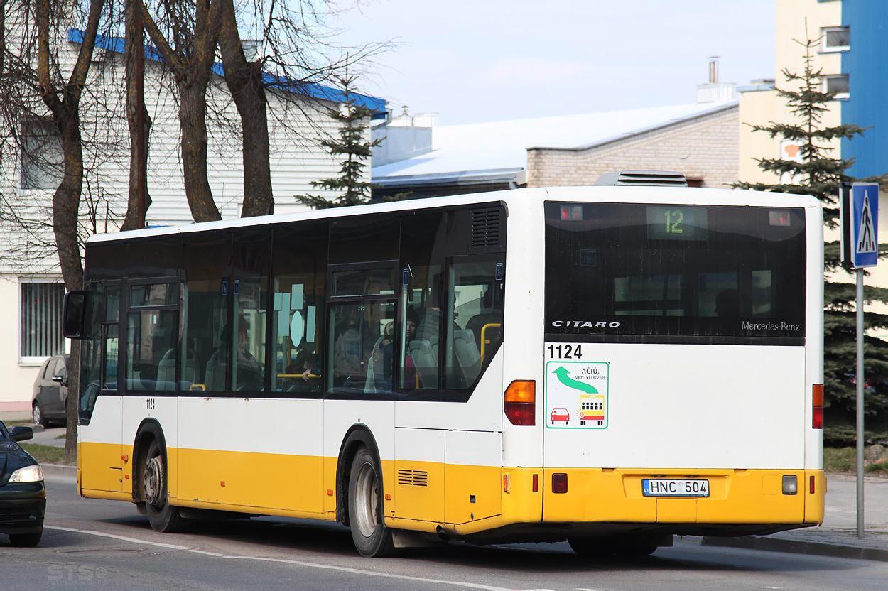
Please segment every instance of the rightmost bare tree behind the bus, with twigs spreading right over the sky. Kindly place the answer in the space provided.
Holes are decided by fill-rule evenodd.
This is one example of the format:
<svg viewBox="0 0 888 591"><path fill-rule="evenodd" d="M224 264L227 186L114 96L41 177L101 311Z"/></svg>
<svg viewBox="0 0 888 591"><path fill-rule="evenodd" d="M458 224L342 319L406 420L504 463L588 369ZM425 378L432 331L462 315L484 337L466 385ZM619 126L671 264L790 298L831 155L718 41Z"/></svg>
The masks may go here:
<svg viewBox="0 0 888 591"><path fill-rule="evenodd" d="M329 2L251 0L239 4L239 10L235 9L234 0L222 3L218 44L226 84L242 127L242 217L261 216L274 210L266 93L272 91L279 99L285 116L279 116L276 123L287 129L291 137L300 138L306 145L316 144L319 136L321 142L335 141L313 122L318 113L329 114L330 100L345 102L347 98L322 89L319 84L338 86L342 70L354 70L355 64L369 64L392 43L368 43L358 48L336 46L332 43L335 32L324 22L325 15L333 11ZM321 6L325 9L322 12ZM245 55L239 27L251 30L251 43L261 49L251 59ZM310 136L303 135L304 130L288 121L286 114L293 111L312 128Z"/></svg>

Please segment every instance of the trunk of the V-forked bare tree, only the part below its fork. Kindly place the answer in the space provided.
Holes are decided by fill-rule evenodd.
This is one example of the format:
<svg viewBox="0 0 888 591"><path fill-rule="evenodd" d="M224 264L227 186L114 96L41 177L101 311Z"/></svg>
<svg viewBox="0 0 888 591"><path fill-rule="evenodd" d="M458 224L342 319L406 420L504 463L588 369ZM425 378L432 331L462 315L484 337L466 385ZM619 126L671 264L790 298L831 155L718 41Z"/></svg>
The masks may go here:
<svg viewBox="0 0 888 591"><path fill-rule="evenodd" d="M178 123L182 130L185 194L195 222L222 219L207 174L207 84L183 80L178 85Z"/></svg>

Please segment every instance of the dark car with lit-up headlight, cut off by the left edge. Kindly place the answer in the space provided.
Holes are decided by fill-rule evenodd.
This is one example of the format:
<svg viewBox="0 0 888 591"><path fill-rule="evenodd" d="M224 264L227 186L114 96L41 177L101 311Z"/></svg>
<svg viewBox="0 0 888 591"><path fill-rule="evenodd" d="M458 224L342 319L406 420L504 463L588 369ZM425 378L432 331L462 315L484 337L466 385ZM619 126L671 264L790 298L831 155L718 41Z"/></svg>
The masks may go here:
<svg viewBox="0 0 888 591"><path fill-rule="evenodd" d="M10 431L0 421L0 533L12 546L36 546L44 534L44 472L18 444L32 437L30 427Z"/></svg>

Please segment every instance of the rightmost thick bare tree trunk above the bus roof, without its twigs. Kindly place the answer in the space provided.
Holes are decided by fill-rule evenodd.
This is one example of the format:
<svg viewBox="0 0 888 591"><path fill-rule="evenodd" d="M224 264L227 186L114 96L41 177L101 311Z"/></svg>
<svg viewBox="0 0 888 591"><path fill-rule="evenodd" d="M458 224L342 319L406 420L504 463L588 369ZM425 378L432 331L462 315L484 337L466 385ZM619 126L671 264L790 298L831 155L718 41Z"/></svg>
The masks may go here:
<svg viewBox="0 0 888 591"><path fill-rule="evenodd" d="M266 91L262 83L262 62L249 62L243 55L237 31L234 0L223 0L219 49L225 67L225 80L234 105L241 114L243 151L242 217L265 216L274 212Z"/></svg>

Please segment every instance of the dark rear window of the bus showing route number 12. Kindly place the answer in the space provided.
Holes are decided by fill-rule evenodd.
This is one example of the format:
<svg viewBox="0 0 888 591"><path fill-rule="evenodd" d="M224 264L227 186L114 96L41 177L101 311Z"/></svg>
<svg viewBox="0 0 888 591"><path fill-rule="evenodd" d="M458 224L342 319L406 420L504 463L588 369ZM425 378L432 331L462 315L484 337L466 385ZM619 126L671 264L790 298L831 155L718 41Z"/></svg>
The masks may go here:
<svg viewBox="0 0 888 591"><path fill-rule="evenodd" d="M801 208L547 202L547 340L805 342Z"/></svg>

